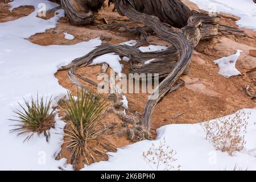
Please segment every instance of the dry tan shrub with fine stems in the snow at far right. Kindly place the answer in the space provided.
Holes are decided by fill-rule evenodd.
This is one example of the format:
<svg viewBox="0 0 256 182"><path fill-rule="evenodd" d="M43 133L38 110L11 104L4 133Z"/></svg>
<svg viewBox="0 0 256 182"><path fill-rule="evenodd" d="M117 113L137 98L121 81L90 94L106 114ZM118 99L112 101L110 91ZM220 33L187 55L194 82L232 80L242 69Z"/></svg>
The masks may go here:
<svg viewBox="0 0 256 182"><path fill-rule="evenodd" d="M210 140L217 150L228 152L241 151L245 146L245 133L250 113L238 111L234 117L215 119L202 123L206 139Z"/></svg>

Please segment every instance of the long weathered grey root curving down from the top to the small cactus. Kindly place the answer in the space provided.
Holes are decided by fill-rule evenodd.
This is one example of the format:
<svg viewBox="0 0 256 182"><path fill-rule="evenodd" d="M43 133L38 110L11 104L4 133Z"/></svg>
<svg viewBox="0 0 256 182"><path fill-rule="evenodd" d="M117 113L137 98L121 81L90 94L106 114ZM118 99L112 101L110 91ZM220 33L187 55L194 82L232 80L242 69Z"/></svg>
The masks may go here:
<svg viewBox="0 0 256 182"><path fill-rule="evenodd" d="M204 15L191 16L188 19L187 26L182 28L183 32L177 32L160 22L158 17L139 13L130 3L126 1L119 1L119 3L119 9L124 15L130 19L137 20L137 22L147 24L160 38L170 42L179 53L179 61L177 61L174 70L159 84L158 88L154 90L152 96L156 97L152 100L148 100L144 108L142 126L144 126L147 131L150 131L152 113L156 105L169 92L172 86L174 86L175 82L191 61L192 46L196 46L202 38L200 27L202 27L203 23L215 22L216 20ZM217 35L218 28L213 29L215 30L215 35Z"/></svg>

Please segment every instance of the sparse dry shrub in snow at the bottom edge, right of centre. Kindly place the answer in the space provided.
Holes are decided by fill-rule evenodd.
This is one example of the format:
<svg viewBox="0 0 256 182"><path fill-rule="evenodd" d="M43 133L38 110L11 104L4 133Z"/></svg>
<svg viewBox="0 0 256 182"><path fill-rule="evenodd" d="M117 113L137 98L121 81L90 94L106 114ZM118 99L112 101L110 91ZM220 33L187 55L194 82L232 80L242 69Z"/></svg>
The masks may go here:
<svg viewBox="0 0 256 182"><path fill-rule="evenodd" d="M156 147L154 143L150 149L146 152L143 152L143 158L146 163L155 171L158 171L162 168L164 171L170 171L175 169L171 164L175 162L176 151L172 150L170 146L166 145L166 140L160 142L160 146ZM177 166L177 170L180 170L180 165Z"/></svg>

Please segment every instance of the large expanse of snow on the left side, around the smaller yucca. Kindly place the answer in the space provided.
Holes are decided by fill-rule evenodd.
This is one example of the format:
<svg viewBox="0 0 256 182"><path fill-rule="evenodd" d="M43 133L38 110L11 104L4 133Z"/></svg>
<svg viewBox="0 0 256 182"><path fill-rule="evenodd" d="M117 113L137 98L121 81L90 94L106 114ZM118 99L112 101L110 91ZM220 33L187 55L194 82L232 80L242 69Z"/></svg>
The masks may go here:
<svg viewBox="0 0 256 182"><path fill-rule="evenodd" d="M11 2L13 7L32 5L34 13L11 22L0 23L0 169L2 170L57 170L65 168L65 159L55 160L63 140L65 123L56 118L56 128L51 129L49 143L41 136L34 135L28 142L23 140L26 135L17 137L10 133L9 125L15 124L8 119L13 118L12 109L19 109L18 101L31 96L53 96L67 93L54 74L61 65L69 63L76 57L83 56L101 44L100 39L82 42L74 46L38 46L26 39L31 35L44 32L56 25L59 14L49 20L36 18L38 3L46 3L51 9L57 4L47 0ZM69 169L70 165L67 166Z"/></svg>

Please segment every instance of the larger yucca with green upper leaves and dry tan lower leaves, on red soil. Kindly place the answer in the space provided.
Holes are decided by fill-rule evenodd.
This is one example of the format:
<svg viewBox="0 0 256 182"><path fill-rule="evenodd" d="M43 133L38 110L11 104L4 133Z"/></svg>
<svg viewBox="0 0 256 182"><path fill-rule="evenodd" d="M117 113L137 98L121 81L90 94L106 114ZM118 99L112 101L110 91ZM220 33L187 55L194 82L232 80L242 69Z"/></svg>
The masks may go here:
<svg viewBox="0 0 256 182"><path fill-rule="evenodd" d="M90 146L88 142L104 137L107 127L104 127L101 121L106 117L105 109L108 105L102 95L94 96L93 90L88 93L85 90L81 93L77 90L77 98L68 91L68 98L64 110L70 124L64 129L63 150L71 152L69 160L74 166L82 159L89 164L89 158L106 155L101 147Z"/></svg>

